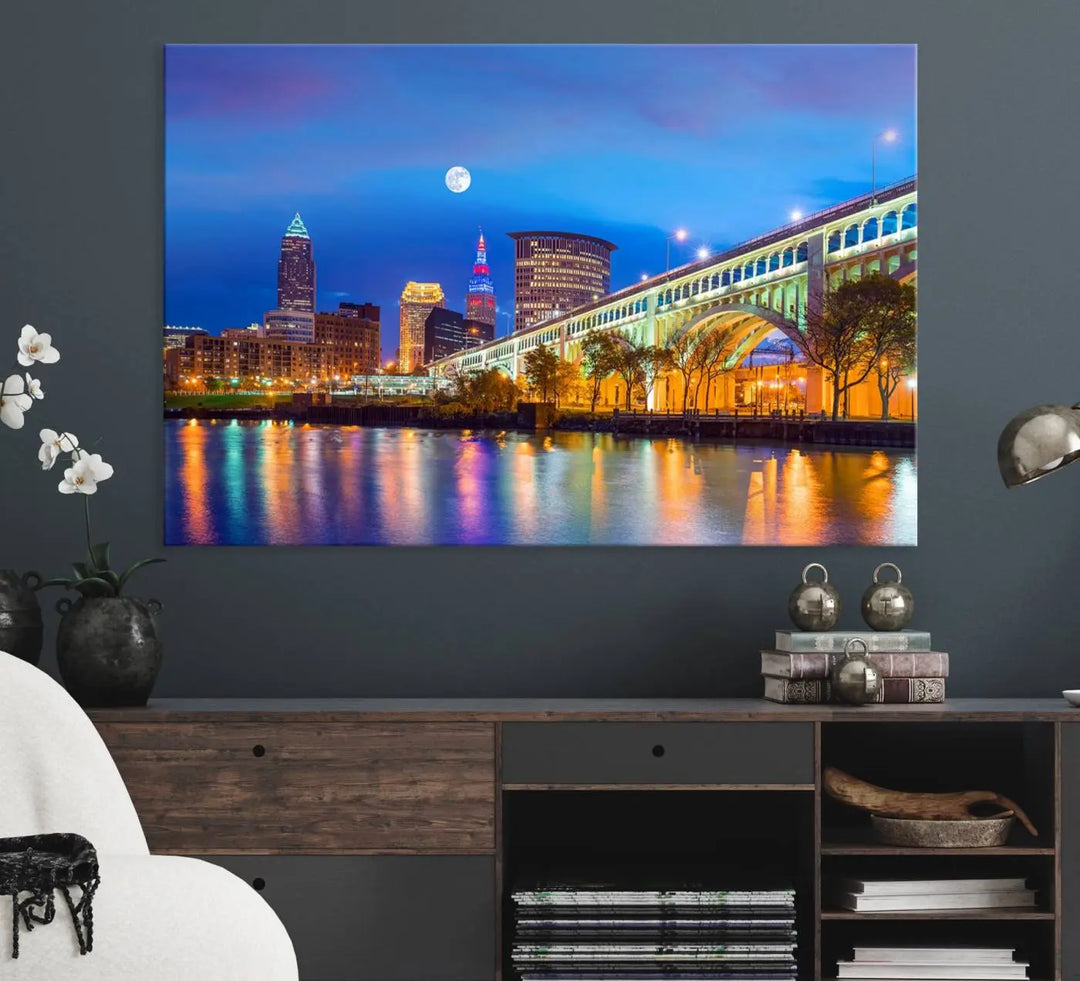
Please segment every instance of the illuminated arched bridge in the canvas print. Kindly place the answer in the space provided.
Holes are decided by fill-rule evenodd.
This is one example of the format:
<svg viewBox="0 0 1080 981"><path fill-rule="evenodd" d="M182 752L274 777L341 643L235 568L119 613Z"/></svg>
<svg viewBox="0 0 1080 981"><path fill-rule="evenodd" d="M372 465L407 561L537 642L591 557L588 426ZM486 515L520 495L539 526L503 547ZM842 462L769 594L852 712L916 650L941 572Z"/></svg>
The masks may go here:
<svg viewBox="0 0 1080 981"><path fill-rule="evenodd" d="M663 345L680 328L721 328L728 364L739 366L773 331L795 337L807 307L847 279L885 272L914 280L918 204L915 177L845 201L766 232L717 255L680 266L517 331L508 337L433 362L436 377L497 367L516 378L531 349L546 345L577 361L591 331L618 331L637 344ZM820 369L811 367L807 408L822 404ZM816 394L810 388L816 387ZM663 381L649 407L663 405Z"/></svg>

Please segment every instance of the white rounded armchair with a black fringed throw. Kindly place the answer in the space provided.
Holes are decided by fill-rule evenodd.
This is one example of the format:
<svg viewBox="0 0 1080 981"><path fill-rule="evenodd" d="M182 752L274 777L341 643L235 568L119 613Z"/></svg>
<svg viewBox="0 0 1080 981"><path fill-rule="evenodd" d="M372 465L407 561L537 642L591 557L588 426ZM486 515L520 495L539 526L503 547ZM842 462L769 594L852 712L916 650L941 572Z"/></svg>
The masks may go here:
<svg viewBox="0 0 1080 981"><path fill-rule="evenodd" d="M94 950L71 919L21 931L0 897L4 981L296 981L281 920L251 886L197 859L151 856L123 780L97 730L37 668L0 653L0 837L73 832L97 848ZM78 890L76 896L78 899Z"/></svg>

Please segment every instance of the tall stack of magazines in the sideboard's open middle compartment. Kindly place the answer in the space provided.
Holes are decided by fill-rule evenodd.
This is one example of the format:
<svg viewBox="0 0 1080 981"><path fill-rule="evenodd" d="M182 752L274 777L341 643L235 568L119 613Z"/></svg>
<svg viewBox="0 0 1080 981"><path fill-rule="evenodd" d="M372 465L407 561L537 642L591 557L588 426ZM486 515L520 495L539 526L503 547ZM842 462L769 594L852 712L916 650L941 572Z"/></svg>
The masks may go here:
<svg viewBox="0 0 1080 981"><path fill-rule="evenodd" d="M795 981L795 890L515 890L523 981Z"/></svg>

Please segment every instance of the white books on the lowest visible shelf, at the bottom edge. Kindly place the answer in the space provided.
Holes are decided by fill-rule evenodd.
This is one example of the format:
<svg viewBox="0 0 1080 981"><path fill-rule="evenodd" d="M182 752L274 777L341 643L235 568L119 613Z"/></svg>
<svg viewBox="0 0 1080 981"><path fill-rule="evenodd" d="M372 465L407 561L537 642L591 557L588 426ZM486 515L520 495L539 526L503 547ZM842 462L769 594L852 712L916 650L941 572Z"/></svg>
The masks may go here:
<svg viewBox="0 0 1080 981"><path fill-rule="evenodd" d="M851 960L837 964L838 978L890 981L995 981L1027 978L1029 965L1013 948L856 946Z"/></svg>

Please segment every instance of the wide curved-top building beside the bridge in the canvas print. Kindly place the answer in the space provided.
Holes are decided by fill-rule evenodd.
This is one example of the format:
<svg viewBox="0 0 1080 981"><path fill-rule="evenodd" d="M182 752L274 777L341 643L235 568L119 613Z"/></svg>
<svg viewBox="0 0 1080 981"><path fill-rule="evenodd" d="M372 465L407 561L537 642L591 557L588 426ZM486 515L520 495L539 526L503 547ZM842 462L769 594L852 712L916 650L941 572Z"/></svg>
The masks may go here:
<svg viewBox="0 0 1080 981"><path fill-rule="evenodd" d="M604 239L569 231L512 231L514 330L591 304L611 292L611 253Z"/></svg>

